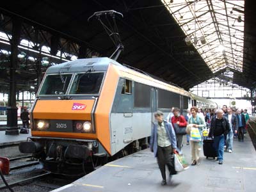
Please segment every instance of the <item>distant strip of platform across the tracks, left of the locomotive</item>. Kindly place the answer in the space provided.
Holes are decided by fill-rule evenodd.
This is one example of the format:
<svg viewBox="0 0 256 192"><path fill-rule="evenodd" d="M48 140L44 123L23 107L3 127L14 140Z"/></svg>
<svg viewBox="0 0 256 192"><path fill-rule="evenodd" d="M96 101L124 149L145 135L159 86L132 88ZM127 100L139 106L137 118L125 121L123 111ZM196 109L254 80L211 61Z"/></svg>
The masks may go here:
<svg viewBox="0 0 256 192"><path fill-rule="evenodd" d="M29 134L19 135L6 135L5 131L0 131L0 146L18 144L20 141L26 141L29 136L31 136L31 129Z"/></svg>

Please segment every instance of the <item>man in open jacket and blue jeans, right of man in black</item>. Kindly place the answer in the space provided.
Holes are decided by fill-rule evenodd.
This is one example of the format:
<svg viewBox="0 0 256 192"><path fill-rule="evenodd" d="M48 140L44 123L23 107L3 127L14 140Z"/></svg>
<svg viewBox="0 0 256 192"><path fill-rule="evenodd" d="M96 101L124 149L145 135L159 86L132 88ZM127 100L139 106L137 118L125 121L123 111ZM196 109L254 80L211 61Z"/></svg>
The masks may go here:
<svg viewBox="0 0 256 192"><path fill-rule="evenodd" d="M232 109L230 107L227 108L227 112L224 116L225 118L228 119L228 123L230 125L230 132L227 134L227 140L226 140L226 150L228 152L232 153L232 148L233 148L233 138L234 138L234 133L237 133L238 130L238 121L236 118L236 115L232 113Z"/></svg>

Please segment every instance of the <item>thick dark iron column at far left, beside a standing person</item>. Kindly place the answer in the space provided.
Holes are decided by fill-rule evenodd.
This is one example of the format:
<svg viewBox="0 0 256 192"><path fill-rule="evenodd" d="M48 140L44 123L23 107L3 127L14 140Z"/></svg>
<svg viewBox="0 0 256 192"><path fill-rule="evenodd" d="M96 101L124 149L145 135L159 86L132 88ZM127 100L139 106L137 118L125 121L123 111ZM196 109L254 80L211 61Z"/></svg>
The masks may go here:
<svg viewBox="0 0 256 192"><path fill-rule="evenodd" d="M11 44L11 55L10 55L10 90L7 107L7 126L5 134L19 134L17 124L17 106L16 106L16 76L15 72L17 69L17 56L18 56L18 45L20 43L22 22L19 19L12 19L12 40Z"/></svg>

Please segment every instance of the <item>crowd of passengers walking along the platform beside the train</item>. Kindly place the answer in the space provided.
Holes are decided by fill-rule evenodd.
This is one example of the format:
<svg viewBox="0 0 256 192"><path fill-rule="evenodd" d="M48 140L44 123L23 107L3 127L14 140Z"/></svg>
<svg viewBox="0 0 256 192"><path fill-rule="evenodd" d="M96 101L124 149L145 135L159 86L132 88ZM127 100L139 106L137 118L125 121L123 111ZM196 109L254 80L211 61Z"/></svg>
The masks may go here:
<svg viewBox="0 0 256 192"><path fill-rule="evenodd" d="M193 106L187 110L188 113L180 115L179 108L172 108L166 119L163 112L155 113L156 124L152 129L150 138L150 149L157 157L157 163L162 175L162 185L166 184L165 167L167 165L170 172L169 180L172 175L177 174L174 167L173 154L182 154L183 137L182 134L176 134L173 127L194 127L201 134L202 130L209 130L208 137L213 138L213 146L218 155L217 161L223 164L224 151L233 152L233 140L244 141L244 134L250 120L246 109L234 109L223 105L222 109L205 109ZM203 137L202 137L203 138ZM200 164L199 152L202 147L202 141L191 141L189 134L186 134L186 145L191 148L191 165Z"/></svg>

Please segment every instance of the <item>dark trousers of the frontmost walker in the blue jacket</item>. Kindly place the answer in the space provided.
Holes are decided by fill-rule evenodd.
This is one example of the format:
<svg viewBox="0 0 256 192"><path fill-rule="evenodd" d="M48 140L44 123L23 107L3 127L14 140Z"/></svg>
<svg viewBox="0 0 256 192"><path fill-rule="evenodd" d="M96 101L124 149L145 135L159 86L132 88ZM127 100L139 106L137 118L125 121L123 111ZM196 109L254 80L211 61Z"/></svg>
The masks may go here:
<svg viewBox="0 0 256 192"><path fill-rule="evenodd" d="M174 156L172 154L172 146L159 147L157 146L157 163L161 171L163 180L166 180L165 165L168 166L170 175L175 175L177 172L174 168Z"/></svg>

